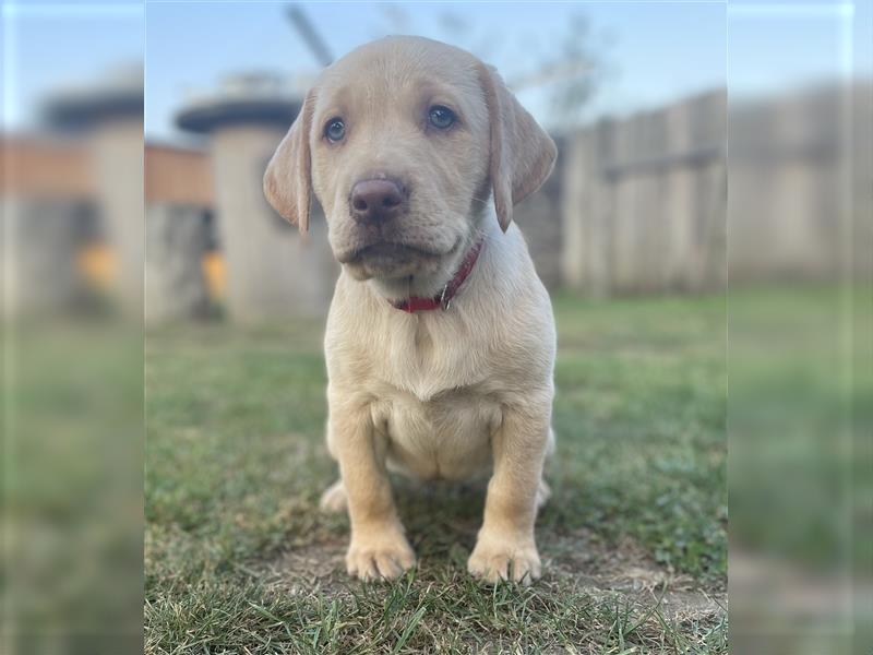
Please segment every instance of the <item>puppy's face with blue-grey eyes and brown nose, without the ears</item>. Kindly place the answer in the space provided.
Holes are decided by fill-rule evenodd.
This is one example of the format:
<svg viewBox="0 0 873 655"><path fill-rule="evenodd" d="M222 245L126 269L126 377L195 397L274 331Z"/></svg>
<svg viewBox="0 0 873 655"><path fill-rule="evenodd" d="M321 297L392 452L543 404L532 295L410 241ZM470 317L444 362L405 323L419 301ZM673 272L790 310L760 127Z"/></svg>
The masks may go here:
<svg viewBox="0 0 873 655"><path fill-rule="evenodd" d="M312 187L351 275L451 275L487 201L488 126L475 60L449 47L382 41L325 71Z"/></svg>

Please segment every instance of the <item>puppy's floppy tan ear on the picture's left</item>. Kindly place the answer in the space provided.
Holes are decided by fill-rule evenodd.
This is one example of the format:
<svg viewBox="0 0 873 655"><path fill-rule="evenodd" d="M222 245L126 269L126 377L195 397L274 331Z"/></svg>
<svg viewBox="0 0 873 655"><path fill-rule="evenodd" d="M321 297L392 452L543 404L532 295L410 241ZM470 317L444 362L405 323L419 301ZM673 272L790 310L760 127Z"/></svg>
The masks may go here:
<svg viewBox="0 0 873 655"><path fill-rule="evenodd" d="M314 110L313 92L307 94L291 129L279 143L264 174L264 195L273 209L300 231L309 229L312 196L312 159L309 136Z"/></svg>

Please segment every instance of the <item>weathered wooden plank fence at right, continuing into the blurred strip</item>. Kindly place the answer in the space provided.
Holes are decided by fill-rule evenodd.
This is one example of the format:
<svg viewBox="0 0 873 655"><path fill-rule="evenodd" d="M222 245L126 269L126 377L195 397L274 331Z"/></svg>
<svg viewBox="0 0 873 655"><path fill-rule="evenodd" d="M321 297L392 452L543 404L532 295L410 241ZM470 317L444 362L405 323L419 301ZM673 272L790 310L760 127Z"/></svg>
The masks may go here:
<svg viewBox="0 0 873 655"><path fill-rule="evenodd" d="M873 84L856 80L732 100L730 132L727 93L713 91L564 138L560 190L547 189L560 199L559 284L612 295L720 289L728 274L869 279L871 126Z"/></svg>

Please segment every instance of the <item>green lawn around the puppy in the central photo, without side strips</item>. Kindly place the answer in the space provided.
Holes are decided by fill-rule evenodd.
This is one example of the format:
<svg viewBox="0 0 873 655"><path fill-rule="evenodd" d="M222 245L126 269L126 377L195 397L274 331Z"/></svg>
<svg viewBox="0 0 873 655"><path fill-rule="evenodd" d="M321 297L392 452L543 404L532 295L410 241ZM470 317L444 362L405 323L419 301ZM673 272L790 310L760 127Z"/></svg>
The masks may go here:
<svg viewBox="0 0 873 655"><path fill-rule="evenodd" d="M553 496L529 588L465 571L480 489L396 480L418 568L347 579L318 511L322 325L148 335L146 652L727 653L725 299L554 299Z"/></svg>

